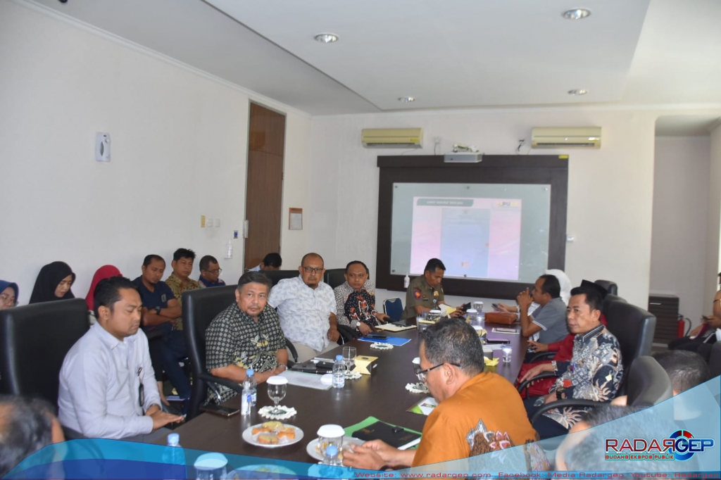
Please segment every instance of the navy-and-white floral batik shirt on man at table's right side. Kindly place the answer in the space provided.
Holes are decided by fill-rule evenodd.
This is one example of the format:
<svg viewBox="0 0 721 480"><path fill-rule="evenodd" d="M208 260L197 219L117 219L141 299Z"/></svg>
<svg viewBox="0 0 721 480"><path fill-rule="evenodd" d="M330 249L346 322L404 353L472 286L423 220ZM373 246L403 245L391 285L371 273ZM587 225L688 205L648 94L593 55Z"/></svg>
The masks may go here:
<svg viewBox="0 0 721 480"><path fill-rule="evenodd" d="M576 335L573 339L573 356L567 362L555 362L559 374L551 391L565 388L567 399L586 399L609 402L621 385L624 368L621 363L619 341L603 324ZM587 408L564 407L544 413L570 429L583 418Z"/></svg>

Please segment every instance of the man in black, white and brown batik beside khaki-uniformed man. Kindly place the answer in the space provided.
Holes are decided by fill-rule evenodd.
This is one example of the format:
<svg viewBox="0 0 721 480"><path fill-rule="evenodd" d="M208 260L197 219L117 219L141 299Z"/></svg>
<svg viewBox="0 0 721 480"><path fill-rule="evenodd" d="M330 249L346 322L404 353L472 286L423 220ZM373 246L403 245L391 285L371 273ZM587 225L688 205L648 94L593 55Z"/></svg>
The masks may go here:
<svg viewBox="0 0 721 480"><path fill-rule="evenodd" d="M338 324L350 326L361 335L371 333L374 326L389 318L376 310L376 285L368 275L366 264L353 260L345 266L345 283L333 289Z"/></svg>

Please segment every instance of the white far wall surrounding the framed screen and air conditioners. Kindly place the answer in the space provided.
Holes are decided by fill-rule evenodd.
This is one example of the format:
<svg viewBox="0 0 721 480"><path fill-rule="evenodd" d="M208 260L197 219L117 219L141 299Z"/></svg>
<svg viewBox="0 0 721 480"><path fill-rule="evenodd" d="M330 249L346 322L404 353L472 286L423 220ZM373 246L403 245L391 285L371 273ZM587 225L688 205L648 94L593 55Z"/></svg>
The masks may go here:
<svg viewBox="0 0 721 480"><path fill-rule="evenodd" d="M534 126L598 125L603 128L600 150L531 153L570 154L567 232L575 236L575 242L567 244L566 272L572 282L614 280L628 301L647 306L654 125L662 113L549 109L314 117L310 176L327 179L330 187L315 191L311 200L319 212L319 224L309 232L309 244L326 256L328 267L340 267L353 257L375 268L376 156L402 152L363 148L363 128L423 128L425 148L413 154L433 154L435 137L442 138L441 153L453 143L466 143L487 154L513 154L519 138L530 142ZM377 295L397 293L379 290Z"/></svg>

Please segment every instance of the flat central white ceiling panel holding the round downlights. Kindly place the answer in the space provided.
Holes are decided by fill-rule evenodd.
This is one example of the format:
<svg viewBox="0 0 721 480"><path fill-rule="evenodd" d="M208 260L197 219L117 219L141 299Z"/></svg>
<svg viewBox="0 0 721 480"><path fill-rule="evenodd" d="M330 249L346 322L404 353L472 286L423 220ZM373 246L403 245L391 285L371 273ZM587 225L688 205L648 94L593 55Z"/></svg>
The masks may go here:
<svg viewBox="0 0 721 480"><path fill-rule="evenodd" d="M570 21L565 0L207 1L383 110L617 102L648 4L590 0Z"/></svg>

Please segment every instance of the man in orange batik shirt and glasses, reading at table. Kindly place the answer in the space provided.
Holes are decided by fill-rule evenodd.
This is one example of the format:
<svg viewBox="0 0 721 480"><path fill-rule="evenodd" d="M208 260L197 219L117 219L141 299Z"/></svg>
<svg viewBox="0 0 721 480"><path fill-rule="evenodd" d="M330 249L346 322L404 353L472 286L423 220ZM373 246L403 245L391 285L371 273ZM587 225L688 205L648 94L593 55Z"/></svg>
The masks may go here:
<svg viewBox="0 0 721 480"><path fill-rule="evenodd" d="M344 453L343 464L371 470L428 465L537 440L516 388L484 368L483 347L472 326L460 319L430 326L421 334L416 375L438 406L425 422L418 449L398 450L371 440L351 447L353 453ZM526 466L547 466L535 444L527 445Z"/></svg>

